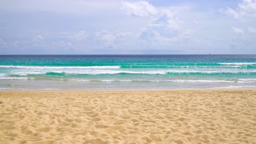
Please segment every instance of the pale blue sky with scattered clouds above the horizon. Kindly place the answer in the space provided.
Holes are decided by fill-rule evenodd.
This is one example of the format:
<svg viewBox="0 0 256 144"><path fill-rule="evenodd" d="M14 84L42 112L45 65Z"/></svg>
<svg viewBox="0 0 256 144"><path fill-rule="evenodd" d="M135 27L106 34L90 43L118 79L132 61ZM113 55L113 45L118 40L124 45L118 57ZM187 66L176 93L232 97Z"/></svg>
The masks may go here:
<svg viewBox="0 0 256 144"><path fill-rule="evenodd" d="M0 0L5 54L256 54L256 0Z"/></svg>

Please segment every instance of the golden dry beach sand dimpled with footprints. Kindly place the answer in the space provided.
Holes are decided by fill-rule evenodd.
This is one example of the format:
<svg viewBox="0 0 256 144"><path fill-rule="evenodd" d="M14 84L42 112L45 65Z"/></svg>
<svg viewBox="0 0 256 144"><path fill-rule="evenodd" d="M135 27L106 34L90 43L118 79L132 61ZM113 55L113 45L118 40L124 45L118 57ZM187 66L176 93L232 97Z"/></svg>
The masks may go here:
<svg viewBox="0 0 256 144"><path fill-rule="evenodd" d="M256 143L256 90L0 92L2 144Z"/></svg>

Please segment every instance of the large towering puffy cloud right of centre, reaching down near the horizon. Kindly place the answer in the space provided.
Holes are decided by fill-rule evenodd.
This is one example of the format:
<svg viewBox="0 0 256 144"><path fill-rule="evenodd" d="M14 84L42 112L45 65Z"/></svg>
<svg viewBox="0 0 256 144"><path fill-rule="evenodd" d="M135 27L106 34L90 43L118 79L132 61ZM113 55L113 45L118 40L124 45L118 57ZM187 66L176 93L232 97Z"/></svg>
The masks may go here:
<svg viewBox="0 0 256 144"><path fill-rule="evenodd" d="M191 34L182 26L183 20L180 20L176 13L176 11L162 9L139 34L140 47L154 52L161 49L160 53L163 50L174 53L189 51L191 46L194 46Z"/></svg>

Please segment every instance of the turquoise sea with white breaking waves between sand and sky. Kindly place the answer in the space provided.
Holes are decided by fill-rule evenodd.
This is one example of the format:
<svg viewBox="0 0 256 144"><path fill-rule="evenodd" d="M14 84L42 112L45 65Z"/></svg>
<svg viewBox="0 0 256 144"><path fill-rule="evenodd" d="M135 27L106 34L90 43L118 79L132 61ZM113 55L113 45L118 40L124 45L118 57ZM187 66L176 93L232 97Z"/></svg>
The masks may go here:
<svg viewBox="0 0 256 144"><path fill-rule="evenodd" d="M256 55L0 56L0 90L256 88Z"/></svg>

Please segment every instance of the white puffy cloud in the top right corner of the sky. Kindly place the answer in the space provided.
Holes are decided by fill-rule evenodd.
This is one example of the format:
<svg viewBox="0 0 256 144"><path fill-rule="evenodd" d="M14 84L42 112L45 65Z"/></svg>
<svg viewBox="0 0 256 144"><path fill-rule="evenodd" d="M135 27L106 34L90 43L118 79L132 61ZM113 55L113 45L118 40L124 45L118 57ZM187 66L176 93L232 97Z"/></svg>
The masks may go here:
<svg viewBox="0 0 256 144"><path fill-rule="evenodd" d="M220 9L221 13L232 16L234 19L243 19L245 17L256 17L256 0L243 0L238 4L236 10L230 7Z"/></svg>

